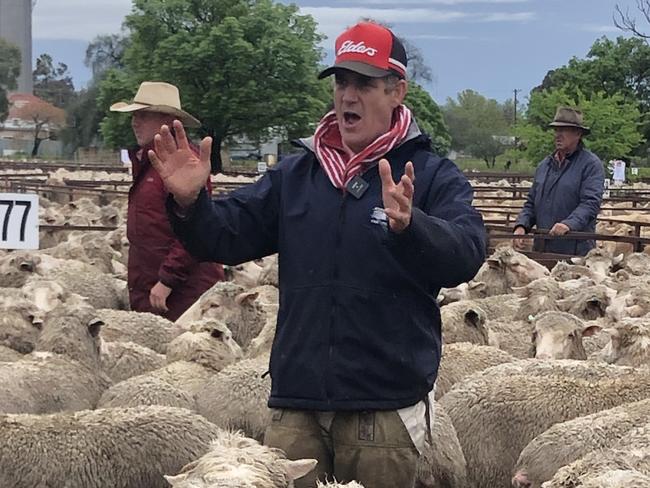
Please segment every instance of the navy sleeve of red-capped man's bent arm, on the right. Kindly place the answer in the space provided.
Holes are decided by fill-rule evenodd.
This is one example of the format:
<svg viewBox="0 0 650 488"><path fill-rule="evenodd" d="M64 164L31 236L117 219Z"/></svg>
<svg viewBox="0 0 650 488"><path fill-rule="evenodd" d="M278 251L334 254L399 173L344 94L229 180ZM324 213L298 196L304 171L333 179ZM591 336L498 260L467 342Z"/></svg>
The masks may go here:
<svg viewBox="0 0 650 488"><path fill-rule="evenodd" d="M472 207L472 187L454 163L442 160L432 181L422 209L413 208L405 231L389 233L388 245L412 273L453 287L471 280L483 264L485 226Z"/></svg>

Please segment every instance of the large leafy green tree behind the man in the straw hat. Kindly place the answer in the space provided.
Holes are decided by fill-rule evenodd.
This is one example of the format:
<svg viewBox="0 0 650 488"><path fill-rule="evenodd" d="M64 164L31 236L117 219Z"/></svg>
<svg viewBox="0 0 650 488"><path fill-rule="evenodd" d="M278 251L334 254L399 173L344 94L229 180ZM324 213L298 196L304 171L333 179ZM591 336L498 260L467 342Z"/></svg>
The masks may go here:
<svg viewBox="0 0 650 488"><path fill-rule="evenodd" d="M228 137L306 135L325 112L326 91L316 78L322 38L314 19L299 15L295 5L134 0L125 25L125 69L101 82L101 108L130 98L144 80L177 85L183 106L203 122L198 135L214 140L213 168ZM124 123L115 121L105 119L102 134L109 144L124 145Z"/></svg>

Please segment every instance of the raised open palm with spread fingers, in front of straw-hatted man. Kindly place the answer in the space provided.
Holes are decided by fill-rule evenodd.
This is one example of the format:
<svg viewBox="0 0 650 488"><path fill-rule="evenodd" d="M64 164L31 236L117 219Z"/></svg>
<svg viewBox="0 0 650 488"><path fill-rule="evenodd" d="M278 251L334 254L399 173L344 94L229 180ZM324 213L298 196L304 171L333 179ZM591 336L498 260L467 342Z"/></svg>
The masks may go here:
<svg viewBox="0 0 650 488"><path fill-rule="evenodd" d="M201 141L197 156L190 149L183 124L174 120L173 125L176 137L168 126L163 125L160 134L154 137L154 150L150 150L148 156L176 203L187 208L196 201L210 176L212 138L206 137Z"/></svg>

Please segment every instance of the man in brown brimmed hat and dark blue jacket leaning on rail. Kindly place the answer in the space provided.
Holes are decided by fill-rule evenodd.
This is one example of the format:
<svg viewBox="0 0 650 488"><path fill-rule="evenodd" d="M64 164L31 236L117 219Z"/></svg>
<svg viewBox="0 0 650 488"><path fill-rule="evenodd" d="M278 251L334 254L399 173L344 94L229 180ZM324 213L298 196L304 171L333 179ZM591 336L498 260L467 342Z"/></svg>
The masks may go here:
<svg viewBox="0 0 650 488"><path fill-rule="evenodd" d="M552 236L569 231L595 232L596 217L605 183L603 164L585 149L582 137L589 128L582 112L559 107L550 124L555 127L555 152L544 159L535 172L533 186L515 223L515 235L537 226ZM524 239L514 240L515 248L525 246ZM584 256L596 243L592 240L536 239L534 250Z"/></svg>

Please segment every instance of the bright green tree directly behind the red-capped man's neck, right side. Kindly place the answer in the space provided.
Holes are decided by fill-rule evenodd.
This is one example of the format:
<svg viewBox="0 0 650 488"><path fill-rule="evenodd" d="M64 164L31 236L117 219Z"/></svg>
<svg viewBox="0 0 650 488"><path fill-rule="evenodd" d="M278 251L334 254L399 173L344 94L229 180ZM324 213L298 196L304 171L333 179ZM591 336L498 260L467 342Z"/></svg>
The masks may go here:
<svg viewBox="0 0 650 488"><path fill-rule="evenodd" d="M431 137L436 153L446 155L451 148L451 136L442 117L442 111L429 92L417 83L410 82L404 104L413 112L420 129Z"/></svg>

